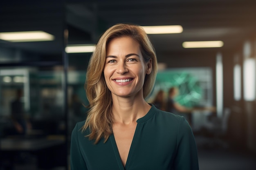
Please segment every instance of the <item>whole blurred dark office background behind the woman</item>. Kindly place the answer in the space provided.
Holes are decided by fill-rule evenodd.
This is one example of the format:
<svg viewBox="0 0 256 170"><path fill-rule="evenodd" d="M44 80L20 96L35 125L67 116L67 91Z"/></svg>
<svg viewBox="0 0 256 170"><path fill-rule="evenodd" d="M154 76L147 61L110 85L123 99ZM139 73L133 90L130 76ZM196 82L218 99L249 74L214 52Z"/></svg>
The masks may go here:
<svg viewBox="0 0 256 170"><path fill-rule="evenodd" d="M176 86L175 100L196 108L177 114L191 124L201 170L255 169L255 9L255 0L1 1L0 170L69 169L72 128L87 111L92 52L67 47L94 45L117 23L182 26L180 33L148 34L159 62L148 102L160 90L166 99ZM19 31L43 31L49 39L2 34ZM185 46L192 41L220 46ZM13 110L22 110L22 130Z"/></svg>

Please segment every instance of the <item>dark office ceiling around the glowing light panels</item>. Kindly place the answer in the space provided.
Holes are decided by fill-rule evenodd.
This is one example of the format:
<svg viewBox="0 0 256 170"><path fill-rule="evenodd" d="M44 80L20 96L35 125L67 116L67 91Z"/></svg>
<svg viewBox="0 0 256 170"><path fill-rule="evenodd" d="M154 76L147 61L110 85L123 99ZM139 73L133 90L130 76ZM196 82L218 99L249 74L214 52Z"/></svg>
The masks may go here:
<svg viewBox="0 0 256 170"><path fill-rule="evenodd" d="M54 0L0 2L0 32L43 30L52 42L10 43L0 47L59 54L63 30L68 44L97 43L99 36L116 23L182 25L180 34L149 35L157 53L232 51L256 37L255 0ZM184 41L222 40L220 49L184 49Z"/></svg>

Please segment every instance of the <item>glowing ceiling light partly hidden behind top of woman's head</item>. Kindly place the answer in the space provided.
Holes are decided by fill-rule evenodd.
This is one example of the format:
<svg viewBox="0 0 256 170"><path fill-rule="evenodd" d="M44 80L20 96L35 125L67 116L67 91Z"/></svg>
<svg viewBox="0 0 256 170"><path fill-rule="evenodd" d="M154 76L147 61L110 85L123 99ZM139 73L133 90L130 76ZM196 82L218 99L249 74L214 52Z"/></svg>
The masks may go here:
<svg viewBox="0 0 256 170"><path fill-rule="evenodd" d="M163 26L142 26L147 34L172 34L182 33L181 25L163 25Z"/></svg>

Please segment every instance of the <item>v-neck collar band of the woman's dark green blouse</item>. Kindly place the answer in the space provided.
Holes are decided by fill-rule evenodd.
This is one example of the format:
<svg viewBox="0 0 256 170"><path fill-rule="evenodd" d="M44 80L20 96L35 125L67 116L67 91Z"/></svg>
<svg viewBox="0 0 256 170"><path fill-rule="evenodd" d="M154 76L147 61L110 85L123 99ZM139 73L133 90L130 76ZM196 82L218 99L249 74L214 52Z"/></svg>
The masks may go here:
<svg viewBox="0 0 256 170"><path fill-rule="evenodd" d="M121 157L119 155L119 151L118 151L118 148L117 148L117 143L115 141L115 137L114 137L114 134L110 135L110 141L111 141L111 144L112 144L112 148L115 152L115 157L117 159L117 163L118 163L118 166L119 166L119 170L128 170L129 168L129 164L130 164L130 159L133 155L133 152L135 150L135 146L136 146L136 142L137 142L137 139L138 139L138 136L141 132L141 126L143 122L147 121L148 119L150 119L150 117L152 117L155 113L155 106L154 105L151 105L151 108L150 110L148 111L148 113L144 116L144 117L141 117L137 120L137 126L136 126L136 129L135 129L135 132L134 132L134 135L133 135L133 138L132 138L132 144L130 146L130 150L129 150L129 153L128 153L128 157L127 157L127 160L126 160L126 165L123 166L123 163L121 161Z"/></svg>

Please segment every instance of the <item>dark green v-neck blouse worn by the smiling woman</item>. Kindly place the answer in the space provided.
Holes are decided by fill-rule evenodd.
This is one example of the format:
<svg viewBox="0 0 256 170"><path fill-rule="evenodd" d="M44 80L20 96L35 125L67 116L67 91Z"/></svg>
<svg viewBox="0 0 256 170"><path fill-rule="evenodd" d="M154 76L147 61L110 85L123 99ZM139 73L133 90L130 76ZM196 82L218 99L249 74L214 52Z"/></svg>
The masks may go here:
<svg viewBox="0 0 256 170"><path fill-rule="evenodd" d="M126 166L119 156L114 135L93 144L85 121L76 124L71 137L71 170L198 170L193 132L184 117L152 106L137 120Z"/></svg>

